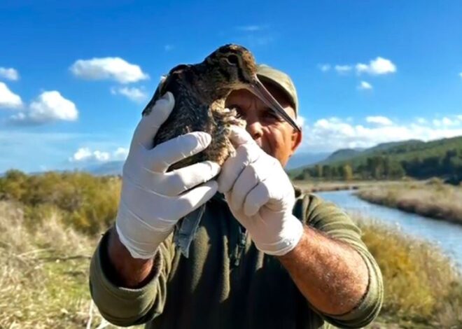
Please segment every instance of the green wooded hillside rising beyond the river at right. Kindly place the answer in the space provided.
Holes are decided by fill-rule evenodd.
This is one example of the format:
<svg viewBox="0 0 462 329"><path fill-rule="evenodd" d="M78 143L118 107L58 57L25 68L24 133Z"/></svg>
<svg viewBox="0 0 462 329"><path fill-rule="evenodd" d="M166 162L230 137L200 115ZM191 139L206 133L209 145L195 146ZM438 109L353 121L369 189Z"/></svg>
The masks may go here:
<svg viewBox="0 0 462 329"><path fill-rule="evenodd" d="M298 179L308 176L325 179L345 176L349 179L395 179L402 176L424 179L440 176L450 177L457 183L462 176L462 137L379 144L360 152L337 151L325 161L299 168L290 175Z"/></svg>

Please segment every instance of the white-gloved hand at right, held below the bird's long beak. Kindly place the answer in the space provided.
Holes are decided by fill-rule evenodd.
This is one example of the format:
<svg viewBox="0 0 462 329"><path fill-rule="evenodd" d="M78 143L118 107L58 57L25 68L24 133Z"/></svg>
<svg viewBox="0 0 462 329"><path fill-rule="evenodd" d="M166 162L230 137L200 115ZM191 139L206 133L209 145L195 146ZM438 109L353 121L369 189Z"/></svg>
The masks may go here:
<svg viewBox="0 0 462 329"><path fill-rule="evenodd" d="M232 127L230 141L236 153L222 166L218 190L260 251L285 255L303 234L302 223L292 215L293 186L281 163L267 155L246 130Z"/></svg>

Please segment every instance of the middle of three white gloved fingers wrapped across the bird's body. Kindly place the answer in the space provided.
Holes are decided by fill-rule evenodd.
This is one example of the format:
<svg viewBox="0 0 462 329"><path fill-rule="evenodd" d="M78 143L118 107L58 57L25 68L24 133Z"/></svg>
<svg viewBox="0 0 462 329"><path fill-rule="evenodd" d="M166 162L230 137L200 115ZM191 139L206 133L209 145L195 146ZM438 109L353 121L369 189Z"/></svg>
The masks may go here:
<svg viewBox="0 0 462 329"><path fill-rule="evenodd" d="M220 165L213 161L199 162L188 167L176 169L166 174L165 182L156 188L158 193L170 197L210 181L220 172Z"/></svg>

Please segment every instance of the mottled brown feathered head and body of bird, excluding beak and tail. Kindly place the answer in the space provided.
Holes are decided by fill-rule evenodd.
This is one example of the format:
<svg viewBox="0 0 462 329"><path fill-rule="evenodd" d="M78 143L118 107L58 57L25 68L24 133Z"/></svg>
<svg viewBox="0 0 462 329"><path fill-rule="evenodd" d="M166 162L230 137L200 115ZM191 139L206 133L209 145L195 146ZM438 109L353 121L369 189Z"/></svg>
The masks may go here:
<svg viewBox="0 0 462 329"><path fill-rule="evenodd" d="M239 64L230 64L230 59L235 61L230 57L233 55L239 57ZM153 146L188 132L208 132L212 137L207 149L177 162L169 170L204 160L219 165L225 162L234 151L228 139L230 125L245 126L236 111L225 109L225 99L232 90L251 83L255 70L255 61L248 50L239 45L225 45L200 64L181 64L169 72L143 111L143 115L150 113L165 92L174 94L174 109L158 130Z"/></svg>

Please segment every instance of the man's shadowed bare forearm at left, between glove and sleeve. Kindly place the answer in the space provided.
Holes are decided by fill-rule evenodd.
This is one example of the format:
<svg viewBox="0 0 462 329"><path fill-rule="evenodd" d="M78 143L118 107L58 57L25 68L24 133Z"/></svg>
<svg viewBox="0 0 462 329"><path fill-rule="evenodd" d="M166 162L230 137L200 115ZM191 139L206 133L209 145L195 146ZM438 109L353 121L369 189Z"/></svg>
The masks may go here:
<svg viewBox="0 0 462 329"><path fill-rule="evenodd" d="M153 259L132 258L114 228L109 234L108 255L113 269L109 279L113 283L126 288L139 288L151 279Z"/></svg>

